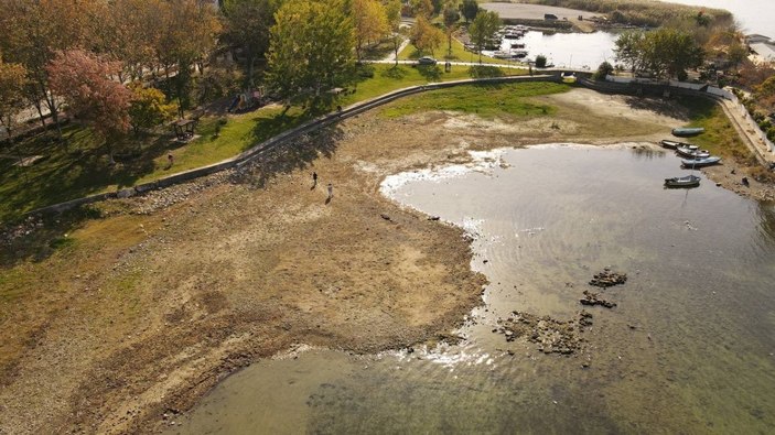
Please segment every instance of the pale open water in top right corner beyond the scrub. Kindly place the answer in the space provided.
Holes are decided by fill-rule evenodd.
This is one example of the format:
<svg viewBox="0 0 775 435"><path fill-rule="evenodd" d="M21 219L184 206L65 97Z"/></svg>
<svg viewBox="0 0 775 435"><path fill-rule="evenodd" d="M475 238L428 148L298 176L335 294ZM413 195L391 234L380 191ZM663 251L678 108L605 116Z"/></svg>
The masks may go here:
<svg viewBox="0 0 775 435"><path fill-rule="evenodd" d="M740 21L743 31L775 37L775 1L773 0L670 0L671 3L726 9Z"/></svg>

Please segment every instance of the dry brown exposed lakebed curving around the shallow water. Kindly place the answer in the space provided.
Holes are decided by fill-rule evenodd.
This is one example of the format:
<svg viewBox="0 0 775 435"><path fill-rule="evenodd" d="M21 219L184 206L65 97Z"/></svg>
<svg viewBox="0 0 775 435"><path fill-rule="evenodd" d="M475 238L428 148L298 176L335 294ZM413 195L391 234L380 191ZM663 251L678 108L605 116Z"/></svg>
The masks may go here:
<svg viewBox="0 0 775 435"><path fill-rule="evenodd" d="M381 197L386 175L469 150L656 143L685 117L583 89L536 100L557 115L373 111L239 173L101 204L106 217L63 230L44 254L24 238L3 246L17 251L0 270L0 433L154 432L229 372L297 344L454 340L484 284L469 241Z"/></svg>

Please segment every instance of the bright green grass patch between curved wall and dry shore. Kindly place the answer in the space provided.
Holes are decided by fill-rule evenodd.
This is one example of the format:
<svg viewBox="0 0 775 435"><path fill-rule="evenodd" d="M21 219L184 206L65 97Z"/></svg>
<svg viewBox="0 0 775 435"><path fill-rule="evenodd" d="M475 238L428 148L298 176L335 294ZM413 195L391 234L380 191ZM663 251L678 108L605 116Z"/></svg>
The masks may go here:
<svg viewBox="0 0 775 435"><path fill-rule="evenodd" d="M394 118L424 110L453 110L483 118L545 116L555 113L556 108L527 101L525 97L567 90L568 85L543 81L458 86L403 98L384 108L381 115Z"/></svg>

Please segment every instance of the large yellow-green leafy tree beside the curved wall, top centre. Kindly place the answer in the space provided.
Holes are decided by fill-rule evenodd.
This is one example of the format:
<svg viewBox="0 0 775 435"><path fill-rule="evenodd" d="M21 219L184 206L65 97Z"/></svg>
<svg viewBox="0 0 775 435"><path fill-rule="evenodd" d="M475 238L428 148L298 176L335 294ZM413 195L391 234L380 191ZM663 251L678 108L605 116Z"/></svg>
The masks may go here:
<svg viewBox="0 0 775 435"><path fill-rule="evenodd" d="M355 29L343 0L290 0L275 15L267 81L287 102L316 108L354 79Z"/></svg>

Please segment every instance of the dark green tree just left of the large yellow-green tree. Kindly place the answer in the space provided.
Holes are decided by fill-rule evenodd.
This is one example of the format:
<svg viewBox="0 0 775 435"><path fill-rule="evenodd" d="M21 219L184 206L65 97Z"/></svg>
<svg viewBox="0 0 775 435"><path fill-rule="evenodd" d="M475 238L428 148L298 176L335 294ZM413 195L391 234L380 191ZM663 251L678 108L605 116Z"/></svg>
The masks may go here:
<svg viewBox="0 0 775 435"><path fill-rule="evenodd" d="M269 50L269 30L277 6L271 0L225 0L224 41L245 54L246 86L252 87L256 59Z"/></svg>

